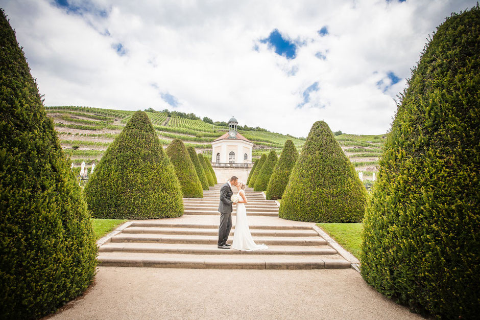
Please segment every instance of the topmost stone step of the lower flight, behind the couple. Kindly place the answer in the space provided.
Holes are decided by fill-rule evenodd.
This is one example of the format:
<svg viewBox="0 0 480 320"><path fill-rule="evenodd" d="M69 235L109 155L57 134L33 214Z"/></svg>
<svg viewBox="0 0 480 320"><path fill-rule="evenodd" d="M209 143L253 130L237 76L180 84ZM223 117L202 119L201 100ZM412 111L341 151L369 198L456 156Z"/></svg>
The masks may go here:
<svg viewBox="0 0 480 320"><path fill-rule="evenodd" d="M179 228L218 228L218 224L206 224L206 223L178 223L178 222L167 222L167 221L152 221L152 220L141 220L133 221L130 226L153 226L153 227L179 227ZM249 225L250 231L260 229L260 230L312 230L311 226L308 225L273 225L273 224L258 224L258 225ZM235 230L235 225L232 227Z"/></svg>

